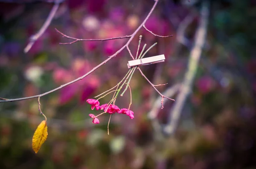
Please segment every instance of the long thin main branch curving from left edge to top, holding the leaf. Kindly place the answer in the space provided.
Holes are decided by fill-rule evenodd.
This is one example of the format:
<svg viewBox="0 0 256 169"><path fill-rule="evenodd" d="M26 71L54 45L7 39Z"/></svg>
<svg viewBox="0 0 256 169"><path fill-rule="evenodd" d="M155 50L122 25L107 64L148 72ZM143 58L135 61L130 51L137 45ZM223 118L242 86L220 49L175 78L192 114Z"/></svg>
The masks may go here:
<svg viewBox="0 0 256 169"><path fill-rule="evenodd" d="M131 37L130 39L127 41L127 43L122 46L121 49L119 49L115 54L112 54L111 56L108 57L108 59L106 59L105 61L103 61L102 63L100 63L98 66L95 66L93 69L91 69L89 72L87 72L86 74L84 74L83 76L81 77L78 77L77 79L71 81L71 82L68 82L68 83L65 83L55 89L52 89L50 90L49 92L45 92L41 95L35 95L35 96L30 96L30 97L21 97L21 98L16 98L16 99L9 99L9 100L0 100L0 102L12 102L12 101L18 101L18 100L26 100L26 99L32 99L32 98L36 98L36 97L42 97L44 95L48 95L49 93L52 93L52 92L55 92L59 89L62 89L63 87L65 86L68 86L72 83L75 83L79 80L82 80L84 77L87 77L89 74L91 74L92 72L94 72L96 69L98 69L100 66L106 64L109 60L111 60L113 57L115 57L117 54L119 54L120 52L122 52L122 50L125 49L125 47L127 45L129 45L131 43L131 40L133 40L134 36L139 32L139 30L143 27L143 25L146 23L146 21L148 20L148 18L150 17L150 15L152 14L152 12L154 11L155 7L157 6L157 3L158 3L159 0L155 0L155 3L153 5L153 7L151 8L151 10L149 11L147 17L143 20L143 22L140 24L140 26L134 31L133 34L131 34Z"/></svg>

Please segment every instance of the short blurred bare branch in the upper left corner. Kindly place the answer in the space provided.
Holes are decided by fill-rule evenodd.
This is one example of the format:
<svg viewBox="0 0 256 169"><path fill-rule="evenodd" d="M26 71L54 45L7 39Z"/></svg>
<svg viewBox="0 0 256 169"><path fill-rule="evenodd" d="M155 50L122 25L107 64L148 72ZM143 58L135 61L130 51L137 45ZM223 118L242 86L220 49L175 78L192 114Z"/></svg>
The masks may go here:
<svg viewBox="0 0 256 169"><path fill-rule="evenodd" d="M59 7L59 3L56 1L56 3L52 7L52 10L50 11L49 16L47 17L47 19L44 22L44 24L41 27L41 29L36 34L32 35L29 38L29 43L27 44L27 46L24 49L25 53L29 52L31 47L34 45L35 41L38 40L38 38L41 37L42 34L46 31L46 29L48 28L48 26L52 22L52 19L53 19L54 15L55 15L56 11L58 10L58 7Z"/></svg>

